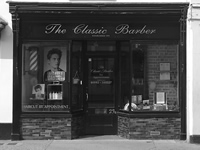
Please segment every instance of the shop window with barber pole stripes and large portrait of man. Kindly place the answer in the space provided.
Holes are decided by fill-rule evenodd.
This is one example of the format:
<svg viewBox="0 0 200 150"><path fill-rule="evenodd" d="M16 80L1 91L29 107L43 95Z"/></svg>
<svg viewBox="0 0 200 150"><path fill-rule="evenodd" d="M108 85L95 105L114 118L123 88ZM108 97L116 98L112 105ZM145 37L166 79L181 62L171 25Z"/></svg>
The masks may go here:
<svg viewBox="0 0 200 150"><path fill-rule="evenodd" d="M22 111L68 111L68 52L64 42L22 45Z"/></svg>

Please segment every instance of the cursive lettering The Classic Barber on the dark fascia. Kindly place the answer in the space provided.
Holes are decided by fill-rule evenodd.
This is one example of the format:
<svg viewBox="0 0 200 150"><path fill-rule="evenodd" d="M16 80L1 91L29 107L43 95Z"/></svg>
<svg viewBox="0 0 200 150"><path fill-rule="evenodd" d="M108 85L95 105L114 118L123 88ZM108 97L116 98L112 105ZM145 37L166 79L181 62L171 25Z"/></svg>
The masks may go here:
<svg viewBox="0 0 200 150"><path fill-rule="evenodd" d="M110 29L110 28L109 28ZM141 27L131 27L129 24L118 24L114 27L114 33L111 33L108 28L92 27L88 24L78 24L72 27L71 31L74 35L91 35L94 37L109 37L110 34L115 35L152 35L156 33L156 29L151 29L147 25ZM69 29L67 29L62 24L48 24L45 27L45 34L67 34Z"/></svg>

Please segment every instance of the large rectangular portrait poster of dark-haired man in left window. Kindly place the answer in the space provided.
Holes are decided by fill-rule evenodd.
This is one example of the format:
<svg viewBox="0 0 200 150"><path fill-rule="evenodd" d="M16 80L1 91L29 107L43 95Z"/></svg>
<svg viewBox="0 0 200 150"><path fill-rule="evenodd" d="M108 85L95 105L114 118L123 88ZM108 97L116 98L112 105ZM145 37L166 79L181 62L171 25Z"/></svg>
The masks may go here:
<svg viewBox="0 0 200 150"><path fill-rule="evenodd" d="M44 81L65 81L66 47L44 48Z"/></svg>

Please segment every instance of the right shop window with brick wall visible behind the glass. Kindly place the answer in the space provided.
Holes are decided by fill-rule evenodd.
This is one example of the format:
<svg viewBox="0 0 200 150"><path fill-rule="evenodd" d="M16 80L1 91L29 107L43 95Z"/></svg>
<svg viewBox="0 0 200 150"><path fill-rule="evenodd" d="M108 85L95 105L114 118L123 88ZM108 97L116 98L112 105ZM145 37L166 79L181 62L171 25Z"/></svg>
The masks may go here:
<svg viewBox="0 0 200 150"><path fill-rule="evenodd" d="M121 109L179 111L177 44L134 42L129 50L126 45L121 47Z"/></svg>

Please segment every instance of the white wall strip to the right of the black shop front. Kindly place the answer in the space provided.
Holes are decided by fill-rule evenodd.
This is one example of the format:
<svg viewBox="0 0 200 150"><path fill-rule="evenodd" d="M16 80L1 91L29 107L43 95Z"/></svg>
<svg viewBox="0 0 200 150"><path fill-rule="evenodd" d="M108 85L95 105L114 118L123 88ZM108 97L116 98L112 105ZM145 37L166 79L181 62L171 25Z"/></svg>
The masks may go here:
<svg viewBox="0 0 200 150"><path fill-rule="evenodd" d="M187 30L187 139L200 135L200 1L192 0Z"/></svg>

